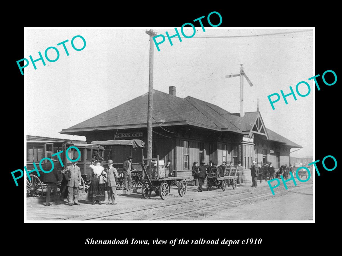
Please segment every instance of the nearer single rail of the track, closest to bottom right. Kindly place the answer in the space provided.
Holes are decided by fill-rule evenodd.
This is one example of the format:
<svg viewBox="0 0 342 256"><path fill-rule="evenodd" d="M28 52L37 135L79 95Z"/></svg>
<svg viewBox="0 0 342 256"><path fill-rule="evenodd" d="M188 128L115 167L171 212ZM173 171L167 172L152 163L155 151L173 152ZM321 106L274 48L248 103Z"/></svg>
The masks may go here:
<svg viewBox="0 0 342 256"><path fill-rule="evenodd" d="M303 188L303 187L307 187L307 186L311 186L311 185L313 185L313 184L311 183L311 184L307 184L307 185L295 186L295 187L289 188L287 190L278 191L277 193L291 191L293 189ZM263 196L267 196L267 195L272 195L272 192L271 193L262 194L262 195L247 197L247 198L244 198L244 199L238 199L238 200L234 200L234 201L230 201L230 202L219 203L219 204L214 204L214 205L208 205L208 206L205 206L205 207L200 207L200 208L196 208L196 209L193 209L193 210L188 210L188 211L184 211L184 212L180 212L180 213L169 214L169 215L165 215L165 216L161 216L161 217L157 217L157 218L150 218L150 219L148 219L148 221L155 221L157 219L167 220L167 219L174 218L174 217L177 217L177 216L185 216L185 215L188 215L189 213L193 213L193 212L197 212L197 211L201 211L201 210L205 210L205 209L216 208L216 207L220 207L220 206L225 205L225 204L242 202L242 201L246 201L246 200L250 200L250 199L254 199L254 198L259 198L259 197L263 197ZM305 195L311 195L311 194L305 194Z"/></svg>

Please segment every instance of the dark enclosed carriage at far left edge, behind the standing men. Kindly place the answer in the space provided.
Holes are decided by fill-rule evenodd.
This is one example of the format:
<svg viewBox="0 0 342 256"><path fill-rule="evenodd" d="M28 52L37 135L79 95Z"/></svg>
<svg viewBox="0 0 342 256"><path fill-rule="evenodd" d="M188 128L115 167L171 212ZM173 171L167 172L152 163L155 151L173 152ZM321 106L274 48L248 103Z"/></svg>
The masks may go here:
<svg viewBox="0 0 342 256"><path fill-rule="evenodd" d="M78 144L77 144L78 145ZM44 192L47 191L47 184L45 183L45 178L48 177L48 173L44 173L41 169L45 171L49 171L52 168L52 164L49 160L45 159L39 165L41 159L48 157L53 161L54 168L52 172L57 172L60 177L60 182L57 183L57 191L60 190L61 184L63 183L63 179L65 179L61 173L61 171L68 165L71 165L72 162L66 157L65 152L66 149L70 146L74 146L74 144L66 141L27 141L26 143L26 168L28 171L34 170L35 166L39 172L36 174L29 174L26 178L26 197L41 197L44 195ZM77 146L78 147L78 146ZM63 151L63 153L59 154L61 157L61 161L63 162L64 167L62 167L61 162L59 161L57 155L52 156L53 154ZM68 156L70 159L74 157L77 151L75 148L71 148L68 151ZM81 151L82 155L82 151ZM82 173L82 172L81 172ZM84 176L84 175L82 175ZM62 181L62 182L61 182ZM81 179L81 186L79 186L80 193L83 193L85 189L85 183L83 178Z"/></svg>

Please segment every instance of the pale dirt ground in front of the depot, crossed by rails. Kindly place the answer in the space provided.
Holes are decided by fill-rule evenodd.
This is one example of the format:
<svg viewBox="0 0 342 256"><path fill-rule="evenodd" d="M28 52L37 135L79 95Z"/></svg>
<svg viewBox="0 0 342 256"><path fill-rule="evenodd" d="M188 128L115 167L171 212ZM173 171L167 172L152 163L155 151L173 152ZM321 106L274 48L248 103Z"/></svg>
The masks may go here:
<svg viewBox="0 0 342 256"><path fill-rule="evenodd" d="M298 185L304 186L309 183L312 183L312 180L306 183L298 182ZM26 213L27 220L31 221L81 221L91 218L108 221L140 221L238 200L236 203L222 205L218 208L196 211L182 216L170 216L167 219L172 221L198 220L221 222L232 220L312 220L313 186L310 185L302 188L299 186L296 189L291 189L294 188L294 185L289 183L288 188L291 190L285 190L284 186L279 186L275 189L274 196L267 195L246 201L240 200L270 193L268 184L266 182L259 183L257 188L252 188L250 184L244 184L238 186L235 190L229 187L226 191L222 191L222 189L206 191L204 186L203 193L197 192L197 187L195 186L188 186L184 197L180 197L177 187L173 186L171 194L166 200L155 196L154 192L150 199L144 199L139 191L132 195L123 195L118 191L118 204L115 206L91 205L91 202L84 197L86 195L79 199L81 205L73 205L72 207L67 205L66 200L64 202L53 202L50 207L46 207L44 200L38 201L31 198L27 199ZM196 201L198 199L206 200ZM142 211L121 214L140 209ZM104 217L106 215L111 216Z"/></svg>

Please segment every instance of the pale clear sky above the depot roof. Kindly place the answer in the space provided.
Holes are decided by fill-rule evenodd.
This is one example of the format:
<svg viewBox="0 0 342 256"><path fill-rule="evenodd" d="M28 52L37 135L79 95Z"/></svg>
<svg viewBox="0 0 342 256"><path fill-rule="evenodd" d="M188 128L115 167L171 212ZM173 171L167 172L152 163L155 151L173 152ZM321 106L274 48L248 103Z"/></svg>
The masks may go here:
<svg viewBox="0 0 342 256"><path fill-rule="evenodd" d="M140 29L27 29L24 58L38 59L46 48L56 47L60 57L46 66L37 61L24 69L26 79L26 134L53 138L85 140L82 136L60 134L95 115L148 92L150 28ZM174 28L152 28L157 34L174 34ZM253 83L244 81L244 111L259 111L267 128L303 146L294 157L313 155L313 32L285 33L303 29L227 29L196 28L193 38L172 38L154 46L154 89L176 96L192 96L231 112L240 112L240 79L225 75L239 74L240 64ZM178 28L180 31L180 28ZM192 29L184 29L192 34ZM270 34L273 35L262 35ZM279 34L280 33L280 34ZM71 39L86 40L82 51L71 47ZM246 35L260 35L245 37ZM213 38L229 36L229 38ZM231 37L232 36L232 37ZM235 37L244 36L244 37ZM211 38L200 38L211 37ZM69 40L67 56L62 45ZM159 39L158 39L159 41ZM75 46L83 46L80 38ZM56 52L48 51L50 59ZM297 83L311 86L307 97L296 94L280 99L272 110L267 96L295 91ZM301 94L307 87L299 87ZM292 150L293 151L293 150Z"/></svg>

